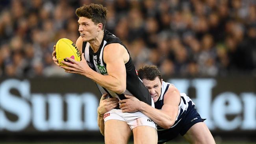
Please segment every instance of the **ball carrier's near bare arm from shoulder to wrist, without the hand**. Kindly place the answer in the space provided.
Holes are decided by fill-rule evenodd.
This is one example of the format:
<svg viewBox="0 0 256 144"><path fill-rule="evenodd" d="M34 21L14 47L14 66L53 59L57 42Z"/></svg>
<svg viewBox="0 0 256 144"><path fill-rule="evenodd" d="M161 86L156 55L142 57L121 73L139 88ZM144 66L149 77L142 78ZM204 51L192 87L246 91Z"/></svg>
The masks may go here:
<svg viewBox="0 0 256 144"><path fill-rule="evenodd" d="M104 48L103 54L108 75L101 75L93 71L85 76L93 79L93 81L106 89L122 94L126 89L126 68L124 61L128 53L121 44L109 44Z"/></svg>

